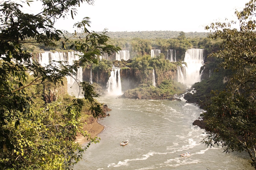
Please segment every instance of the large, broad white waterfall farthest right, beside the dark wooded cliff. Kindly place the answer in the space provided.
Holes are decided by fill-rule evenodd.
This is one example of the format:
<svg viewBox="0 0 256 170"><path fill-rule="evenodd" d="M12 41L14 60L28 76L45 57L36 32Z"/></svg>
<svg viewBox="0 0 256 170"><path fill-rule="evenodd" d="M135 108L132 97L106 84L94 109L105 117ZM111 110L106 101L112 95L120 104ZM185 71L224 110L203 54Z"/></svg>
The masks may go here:
<svg viewBox="0 0 256 170"><path fill-rule="evenodd" d="M188 49L184 62L187 63L186 84L193 85L200 82L200 68L203 66L204 49Z"/></svg>

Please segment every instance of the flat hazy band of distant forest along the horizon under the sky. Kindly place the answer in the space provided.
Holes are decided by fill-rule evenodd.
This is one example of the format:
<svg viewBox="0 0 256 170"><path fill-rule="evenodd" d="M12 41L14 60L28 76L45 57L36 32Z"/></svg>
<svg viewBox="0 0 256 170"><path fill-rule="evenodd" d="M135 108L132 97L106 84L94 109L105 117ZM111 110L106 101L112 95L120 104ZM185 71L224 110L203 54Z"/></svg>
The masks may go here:
<svg viewBox="0 0 256 170"><path fill-rule="evenodd" d="M135 32L108 32L107 36L111 39L173 39L177 38L180 35L181 31L135 31ZM96 32L101 33L101 32ZM207 37L210 32L185 32L187 38L195 37Z"/></svg>

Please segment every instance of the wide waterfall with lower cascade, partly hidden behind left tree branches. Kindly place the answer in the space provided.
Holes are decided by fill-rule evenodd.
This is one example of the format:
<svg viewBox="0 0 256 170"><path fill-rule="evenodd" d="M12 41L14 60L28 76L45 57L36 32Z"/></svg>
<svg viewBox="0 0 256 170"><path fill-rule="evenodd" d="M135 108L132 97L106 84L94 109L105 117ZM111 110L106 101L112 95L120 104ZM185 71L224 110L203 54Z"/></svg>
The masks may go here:
<svg viewBox="0 0 256 170"><path fill-rule="evenodd" d="M76 55L78 52L55 52L52 53L50 51L39 53L38 62L41 66L47 66L50 61L67 61L67 65L73 65L76 60L79 59L79 56ZM58 63L56 62L56 66ZM60 69L60 68L59 68ZM83 81L83 70L82 67L78 68L76 75L67 76L68 82L68 92L69 94L73 93L73 95L78 95L75 91L79 92L79 86L75 82L82 82ZM72 87L72 88L70 88Z"/></svg>

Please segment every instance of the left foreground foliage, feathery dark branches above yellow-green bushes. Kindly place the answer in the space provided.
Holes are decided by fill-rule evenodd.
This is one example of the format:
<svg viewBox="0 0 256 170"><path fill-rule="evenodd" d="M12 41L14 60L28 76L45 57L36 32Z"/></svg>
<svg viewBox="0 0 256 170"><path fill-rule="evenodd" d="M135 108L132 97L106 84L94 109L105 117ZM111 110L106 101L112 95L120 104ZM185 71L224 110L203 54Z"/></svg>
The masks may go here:
<svg viewBox="0 0 256 170"><path fill-rule="evenodd" d="M91 142L98 142L81 130L79 121L82 99L75 99L73 104L49 104L41 110L31 112L33 96L26 93L26 88L46 82L62 83L65 76L72 76L81 64L98 63L95 55L117 52L120 48L109 45L104 30L100 34L89 32L90 21L85 17L74 26L81 29L72 37L63 36L54 28L55 21L74 18L75 8L80 3L93 4L93 0L43 0L43 10L37 14L22 11L23 5L30 6L32 1L2 1L0 5L0 168L1 169L69 169L82 157L82 152ZM74 65L62 61L51 61L46 67L31 60L23 45L33 44L55 47L62 43L63 48L73 48L80 52L79 60ZM32 79L28 77L32 75ZM79 84L85 100L91 105L94 117L102 114L102 105L94 97L98 94L88 82ZM76 133L82 133L91 139L87 147L75 143Z"/></svg>

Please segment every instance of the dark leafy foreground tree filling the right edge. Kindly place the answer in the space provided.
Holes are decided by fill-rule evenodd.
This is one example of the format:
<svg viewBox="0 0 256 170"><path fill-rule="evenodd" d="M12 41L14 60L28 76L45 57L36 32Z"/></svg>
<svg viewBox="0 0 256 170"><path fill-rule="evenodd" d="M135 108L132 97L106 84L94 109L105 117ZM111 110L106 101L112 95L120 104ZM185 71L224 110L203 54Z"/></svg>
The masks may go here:
<svg viewBox="0 0 256 170"><path fill-rule="evenodd" d="M207 123L207 146L222 144L225 152L246 151L251 165L256 169L256 1L246 3L242 11L235 14L240 29L231 28L229 23L212 23L212 38L222 39L221 50L212 57L223 59L221 67L232 70L227 90L215 92L206 113L202 116Z"/></svg>

